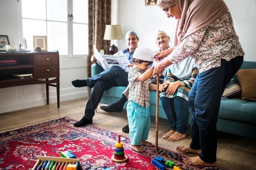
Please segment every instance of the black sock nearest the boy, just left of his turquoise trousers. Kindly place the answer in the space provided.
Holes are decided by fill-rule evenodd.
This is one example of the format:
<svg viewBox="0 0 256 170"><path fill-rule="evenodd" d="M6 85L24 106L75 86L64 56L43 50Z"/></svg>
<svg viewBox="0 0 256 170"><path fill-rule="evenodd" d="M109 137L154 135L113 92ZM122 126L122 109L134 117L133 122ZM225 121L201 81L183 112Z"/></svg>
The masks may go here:
<svg viewBox="0 0 256 170"><path fill-rule="evenodd" d="M110 104L108 106L101 106L101 109L106 112L122 112L126 101L126 96L122 95L122 97L119 100L117 100L117 102Z"/></svg>

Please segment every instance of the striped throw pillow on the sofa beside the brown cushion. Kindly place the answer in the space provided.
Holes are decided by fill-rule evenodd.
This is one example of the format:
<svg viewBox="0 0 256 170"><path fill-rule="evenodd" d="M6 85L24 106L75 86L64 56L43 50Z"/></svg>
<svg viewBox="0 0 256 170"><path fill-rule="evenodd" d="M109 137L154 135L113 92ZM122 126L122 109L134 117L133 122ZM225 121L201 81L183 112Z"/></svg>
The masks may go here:
<svg viewBox="0 0 256 170"><path fill-rule="evenodd" d="M240 97L242 91L240 85L232 78L229 84L225 87L222 97Z"/></svg>

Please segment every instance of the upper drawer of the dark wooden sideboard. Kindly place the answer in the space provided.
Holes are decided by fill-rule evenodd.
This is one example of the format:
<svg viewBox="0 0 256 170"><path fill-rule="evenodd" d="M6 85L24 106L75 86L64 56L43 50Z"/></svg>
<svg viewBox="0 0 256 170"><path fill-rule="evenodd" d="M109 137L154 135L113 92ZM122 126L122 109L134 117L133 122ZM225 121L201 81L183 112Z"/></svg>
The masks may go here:
<svg viewBox="0 0 256 170"><path fill-rule="evenodd" d="M58 64L58 55L57 54L41 54L36 55L36 66L48 66L48 65L57 65Z"/></svg>

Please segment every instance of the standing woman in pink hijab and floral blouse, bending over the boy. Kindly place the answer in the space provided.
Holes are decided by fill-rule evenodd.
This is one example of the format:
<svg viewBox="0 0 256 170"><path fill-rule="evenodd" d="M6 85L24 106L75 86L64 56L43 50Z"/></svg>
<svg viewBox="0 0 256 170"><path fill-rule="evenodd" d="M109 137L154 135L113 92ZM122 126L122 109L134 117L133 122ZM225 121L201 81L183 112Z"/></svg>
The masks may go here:
<svg viewBox="0 0 256 170"><path fill-rule="evenodd" d="M155 64L153 75L190 56L199 69L189 93L191 144L177 146L180 152L195 152L184 162L216 166L217 119L225 86L243 63L245 55L223 0L157 0L168 18L177 20L174 48L156 53L165 57Z"/></svg>

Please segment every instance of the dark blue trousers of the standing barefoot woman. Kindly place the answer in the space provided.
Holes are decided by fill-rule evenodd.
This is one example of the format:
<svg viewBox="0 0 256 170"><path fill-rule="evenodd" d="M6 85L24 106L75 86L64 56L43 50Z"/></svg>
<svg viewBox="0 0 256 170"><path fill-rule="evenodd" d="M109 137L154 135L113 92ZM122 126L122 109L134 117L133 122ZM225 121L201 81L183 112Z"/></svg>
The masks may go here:
<svg viewBox="0 0 256 170"><path fill-rule="evenodd" d="M221 66L198 73L189 92L191 110L192 149L201 149L200 159L207 163L216 162L217 120L220 100L225 86L243 63L243 56L229 62L221 60Z"/></svg>

